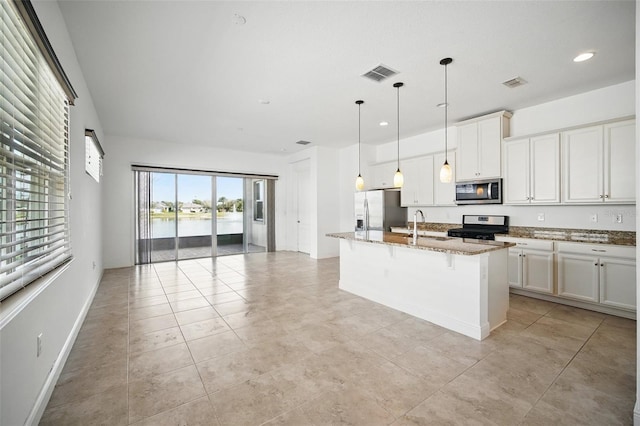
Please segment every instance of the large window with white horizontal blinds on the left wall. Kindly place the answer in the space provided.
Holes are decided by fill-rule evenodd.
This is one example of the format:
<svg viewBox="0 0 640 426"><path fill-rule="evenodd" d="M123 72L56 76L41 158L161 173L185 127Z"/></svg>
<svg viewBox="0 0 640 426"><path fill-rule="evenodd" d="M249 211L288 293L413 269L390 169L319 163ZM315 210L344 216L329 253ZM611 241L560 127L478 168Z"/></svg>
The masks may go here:
<svg viewBox="0 0 640 426"><path fill-rule="evenodd" d="M2 300L71 258L68 129L75 93L31 3L0 2L0 15Z"/></svg>

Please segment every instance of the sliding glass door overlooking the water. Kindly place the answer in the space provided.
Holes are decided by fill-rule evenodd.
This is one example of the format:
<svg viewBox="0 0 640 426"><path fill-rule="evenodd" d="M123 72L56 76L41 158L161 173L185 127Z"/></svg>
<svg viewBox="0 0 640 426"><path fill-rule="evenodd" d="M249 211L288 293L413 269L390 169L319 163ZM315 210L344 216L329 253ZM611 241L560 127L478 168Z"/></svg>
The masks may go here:
<svg viewBox="0 0 640 426"><path fill-rule="evenodd" d="M265 179L137 170L135 176L136 264L275 249L267 202L273 185Z"/></svg>

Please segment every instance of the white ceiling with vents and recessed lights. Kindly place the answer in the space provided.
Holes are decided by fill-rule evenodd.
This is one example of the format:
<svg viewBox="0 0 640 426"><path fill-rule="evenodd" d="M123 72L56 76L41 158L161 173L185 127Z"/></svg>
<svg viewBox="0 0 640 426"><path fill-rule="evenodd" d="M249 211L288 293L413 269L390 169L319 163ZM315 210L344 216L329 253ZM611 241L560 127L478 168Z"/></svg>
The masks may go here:
<svg viewBox="0 0 640 426"><path fill-rule="evenodd" d="M635 76L634 1L59 3L105 133L185 146L348 146L357 99L363 143L393 141L397 81L401 137L441 128L446 56L450 122ZM380 63L400 73L361 77Z"/></svg>

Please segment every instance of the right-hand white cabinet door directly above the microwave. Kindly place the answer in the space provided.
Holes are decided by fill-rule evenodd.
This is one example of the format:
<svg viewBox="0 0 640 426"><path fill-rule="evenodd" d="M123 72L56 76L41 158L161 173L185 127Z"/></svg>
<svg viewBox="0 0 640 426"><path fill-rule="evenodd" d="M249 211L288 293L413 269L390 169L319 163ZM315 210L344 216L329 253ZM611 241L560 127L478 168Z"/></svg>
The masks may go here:
<svg viewBox="0 0 640 426"><path fill-rule="evenodd" d="M478 121L478 177L501 177L502 117Z"/></svg>

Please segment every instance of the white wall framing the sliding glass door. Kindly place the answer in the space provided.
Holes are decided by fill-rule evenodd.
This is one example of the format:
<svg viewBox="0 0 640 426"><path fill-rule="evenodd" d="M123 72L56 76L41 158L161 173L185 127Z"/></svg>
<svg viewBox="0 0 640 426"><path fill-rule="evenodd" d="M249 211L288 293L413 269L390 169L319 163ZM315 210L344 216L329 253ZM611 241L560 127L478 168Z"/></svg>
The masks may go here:
<svg viewBox="0 0 640 426"><path fill-rule="evenodd" d="M285 245L284 200L286 167L282 157L265 154L149 141L107 135L110 150L104 162L106 206L103 221L106 268L134 263L134 205L132 164L281 176L276 181L276 248Z"/></svg>

